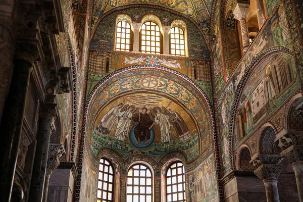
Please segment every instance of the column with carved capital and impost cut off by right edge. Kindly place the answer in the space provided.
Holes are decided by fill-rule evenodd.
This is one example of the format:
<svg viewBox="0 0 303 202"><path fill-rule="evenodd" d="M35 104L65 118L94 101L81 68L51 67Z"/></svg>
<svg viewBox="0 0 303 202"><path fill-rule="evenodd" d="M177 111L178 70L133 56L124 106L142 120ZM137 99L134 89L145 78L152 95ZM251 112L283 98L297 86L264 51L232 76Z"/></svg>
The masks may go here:
<svg viewBox="0 0 303 202"><path fill-rule="evenodd" d="M284 134L280 138L280 156L292 166L298 188L299 201L303 201L303 134Z"/></svg>

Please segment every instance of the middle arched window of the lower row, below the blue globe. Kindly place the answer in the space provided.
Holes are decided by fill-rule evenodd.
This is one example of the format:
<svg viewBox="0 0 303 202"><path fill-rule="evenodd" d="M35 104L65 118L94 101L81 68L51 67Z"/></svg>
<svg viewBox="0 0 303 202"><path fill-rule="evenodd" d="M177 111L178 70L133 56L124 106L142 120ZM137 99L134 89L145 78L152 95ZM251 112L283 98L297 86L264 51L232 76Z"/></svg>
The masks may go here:
<svg viewBox="0 0 303 202"><path fill-rule="evenodd" d="M132 166L127 173L127 202L153 201L153 176L143 164Z"/></svg>

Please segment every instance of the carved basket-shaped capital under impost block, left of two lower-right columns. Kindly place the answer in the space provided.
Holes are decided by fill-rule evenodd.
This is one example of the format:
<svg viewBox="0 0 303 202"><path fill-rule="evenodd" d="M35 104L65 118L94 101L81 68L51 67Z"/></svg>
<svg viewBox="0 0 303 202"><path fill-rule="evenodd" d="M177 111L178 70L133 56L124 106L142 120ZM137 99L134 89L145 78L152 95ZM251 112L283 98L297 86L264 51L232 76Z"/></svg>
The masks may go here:
<svg viewBox="0 0 303 202"><path fill-rule="evenodd" d="M273 165L273 164L262 164L259 166L254 173L259 177L263 182L269 179L277 180L283 166Z"/></svg>

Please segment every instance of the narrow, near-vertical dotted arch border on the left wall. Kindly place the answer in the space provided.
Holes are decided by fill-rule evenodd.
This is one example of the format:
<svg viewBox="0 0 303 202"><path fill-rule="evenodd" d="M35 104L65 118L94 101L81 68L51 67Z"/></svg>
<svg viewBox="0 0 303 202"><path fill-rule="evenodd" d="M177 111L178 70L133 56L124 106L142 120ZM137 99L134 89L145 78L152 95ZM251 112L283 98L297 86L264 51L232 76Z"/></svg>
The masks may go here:
<svg viewBox="0 0 303 202"><path fill-rule="evenodd" d="M72 91L72 135L70 142L71 152L69 159L71 161L75 161L75 145L76 145L76 134L77 134L77 72L76 72L76 61L75 61L75 54L73 51L73 46L71 42L71 38L69 34L67 34L67 42L68 42L68 55L69 55L69 63L72 69L72 76L73 76L73 91Z"/></svg>

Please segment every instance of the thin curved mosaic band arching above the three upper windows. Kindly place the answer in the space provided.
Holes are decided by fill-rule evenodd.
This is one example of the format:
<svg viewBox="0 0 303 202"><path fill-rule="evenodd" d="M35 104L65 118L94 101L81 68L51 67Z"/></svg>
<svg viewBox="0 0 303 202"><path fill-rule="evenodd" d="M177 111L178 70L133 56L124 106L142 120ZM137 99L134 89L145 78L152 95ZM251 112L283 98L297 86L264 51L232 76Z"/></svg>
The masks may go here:
<svg viewBox="0 0 303 202"><path fill-rule="evenodd" d="M205 43L206 43L206 45L207 45L207 47L208 47L208 51L210 51L210 49L212 48L212 47L211 47L211 43L207 40L206 35L204 34L205 31L203 31L203 30L199 27L198 22L196 22L194 19L188 17L187 15L185 15L185 14L183 14L183 13L177 12L177 11L172 10L172 9L164 8L164 7L161 7L161 6L155 6L155 5L128 5L128 6L120 6L120 7L111 9L111 10L109 10L109 11L106 12L106 13L103 13L103 14L102 14L102 17L100 17L100 18L98 19L98 21L96 22L96 24L95 24L93 30L91 30L90 36L89 36L89 40L91 41L91 39L93 38L93 36L94 36L94 34L95 34L95 32L96 32L96 30L97 30L97 28L98 28L98 25L100 24L100 22L101 22L104 18L106 18L108 15L110 15L110 14L116 12L116 11L121 11L121 10L124 10L124 9L133 8L133 7L134 7L134 8L139 8L139 7L141 7L141 8L142 8L142 7L145 7L145 8L154 8L154 9L158 9L158 10L167 11L167 12L173 13L173 14L175 14L175 15L181 16L181 17L183 17L183 18L186 18L186 19L189 20L191 23L193 23L193 24L198 28L198 30L201 32L201 35L203 36L203 39L205 40ZM90 17L92 17L92 10L91 10L91 12L89 12L89 15L90 15ZM90 45L90 43L89 43L89 45Z"/></svg>

